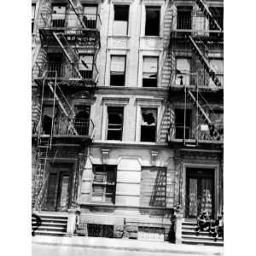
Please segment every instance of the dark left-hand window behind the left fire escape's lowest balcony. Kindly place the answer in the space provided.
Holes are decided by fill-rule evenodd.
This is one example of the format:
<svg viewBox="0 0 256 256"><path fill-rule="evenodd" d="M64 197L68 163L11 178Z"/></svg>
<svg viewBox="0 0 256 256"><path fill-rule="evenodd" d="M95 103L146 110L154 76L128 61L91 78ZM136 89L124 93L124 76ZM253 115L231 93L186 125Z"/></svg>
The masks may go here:
<svg viewBox="0 0 256 256"><path fill-rule="evenodd" d="M57 108L53 109L52 105L43 106L43 115L42 115L42 133L51 134L52 119L55 118L57 114Z"/></svg>

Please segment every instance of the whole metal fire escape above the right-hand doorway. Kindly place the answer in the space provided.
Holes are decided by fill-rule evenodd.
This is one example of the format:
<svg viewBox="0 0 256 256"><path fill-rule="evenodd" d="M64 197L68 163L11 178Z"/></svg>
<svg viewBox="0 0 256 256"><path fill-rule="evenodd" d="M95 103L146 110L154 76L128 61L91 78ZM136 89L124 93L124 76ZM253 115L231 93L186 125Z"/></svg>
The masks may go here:
<svg viewBox="0 0 256 256"><path fill-rule="evenodd" d="M173 113L168 141L174 147L222 147L223 9L208 7L203 0L195 3L172 9L169 99L183 102L184 108L178 120ZM220 57L214 63L212 56Z"/></svg>

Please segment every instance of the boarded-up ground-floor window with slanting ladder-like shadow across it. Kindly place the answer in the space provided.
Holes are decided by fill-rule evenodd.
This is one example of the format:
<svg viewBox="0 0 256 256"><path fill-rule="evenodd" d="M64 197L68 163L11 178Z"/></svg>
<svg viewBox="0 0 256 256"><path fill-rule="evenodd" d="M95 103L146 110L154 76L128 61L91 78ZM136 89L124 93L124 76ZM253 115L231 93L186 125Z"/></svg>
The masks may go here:
<svg viewBox="0 0 256 256"><path fill-rule="evenodd" d="M166 207L166 168L142 168L140 205Z"/></svg>

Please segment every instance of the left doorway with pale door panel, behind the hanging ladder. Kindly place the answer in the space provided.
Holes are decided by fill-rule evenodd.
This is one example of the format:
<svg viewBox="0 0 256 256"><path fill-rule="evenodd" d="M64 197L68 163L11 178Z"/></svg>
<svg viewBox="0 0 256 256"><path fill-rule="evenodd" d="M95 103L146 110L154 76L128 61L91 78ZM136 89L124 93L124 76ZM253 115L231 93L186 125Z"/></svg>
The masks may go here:
<svg viewBox="0 0 256 256"><path fill-rule="evenodd" d="M54 164L49 169L44 211L65 212L71 201L73 164Z"/></svg>

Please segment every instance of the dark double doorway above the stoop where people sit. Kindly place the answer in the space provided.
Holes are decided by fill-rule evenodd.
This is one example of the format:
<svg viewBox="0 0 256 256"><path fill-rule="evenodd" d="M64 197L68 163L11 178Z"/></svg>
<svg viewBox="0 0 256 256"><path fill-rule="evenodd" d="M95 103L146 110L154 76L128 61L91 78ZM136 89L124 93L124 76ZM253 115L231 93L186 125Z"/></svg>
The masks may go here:
<svg viewBox="0 0 256 256"><path fill-rule="evenodd" d="M187 168L186 218L197 218L207 211L214 217L214 169Z"/></svg>

